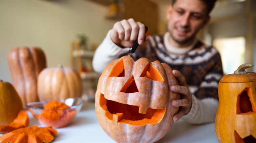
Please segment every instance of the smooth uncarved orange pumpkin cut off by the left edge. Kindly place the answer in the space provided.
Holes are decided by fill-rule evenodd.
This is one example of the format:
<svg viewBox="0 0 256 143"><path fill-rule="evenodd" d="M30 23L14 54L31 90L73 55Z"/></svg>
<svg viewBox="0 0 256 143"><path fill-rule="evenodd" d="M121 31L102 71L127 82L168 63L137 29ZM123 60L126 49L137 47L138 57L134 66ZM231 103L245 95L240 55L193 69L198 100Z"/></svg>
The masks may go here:
<svg viewBox="0 0 256 143"><path fill-rule="evenodd" d="M10 124L22 109L21 99L9 82L0 80L0 125Z"/></svg>

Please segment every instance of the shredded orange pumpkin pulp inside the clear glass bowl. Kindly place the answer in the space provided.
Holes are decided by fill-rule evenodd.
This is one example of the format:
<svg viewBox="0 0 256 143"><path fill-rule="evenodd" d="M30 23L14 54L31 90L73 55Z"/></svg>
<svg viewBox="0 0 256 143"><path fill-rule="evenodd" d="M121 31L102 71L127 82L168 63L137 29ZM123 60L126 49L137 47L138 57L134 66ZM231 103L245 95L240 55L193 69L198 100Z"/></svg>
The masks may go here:
<svg viewBox="0 0 256 143"><path fill-rule="evenodd" d="M44 109L55 110L43 110L42 114L37 115L36 118L41 124L46 126L52 125L53 128L66 126L76 115L75 108L70 109L70 106L56 100L47 103Z"/></svg>

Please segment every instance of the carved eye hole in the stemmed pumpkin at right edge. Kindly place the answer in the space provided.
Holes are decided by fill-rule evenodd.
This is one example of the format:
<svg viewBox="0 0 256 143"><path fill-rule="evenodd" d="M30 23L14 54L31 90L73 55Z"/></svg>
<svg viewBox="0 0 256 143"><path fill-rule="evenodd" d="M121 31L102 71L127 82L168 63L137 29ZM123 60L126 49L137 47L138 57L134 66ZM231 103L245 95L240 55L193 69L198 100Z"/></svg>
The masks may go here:
<svg viewBox="0 0 256 143"><path fill-rule="evenodd" d="M245 90L237 97L237 114L250 114L256 111L255 104L252 100L251 88L245 88Z"/></svg>

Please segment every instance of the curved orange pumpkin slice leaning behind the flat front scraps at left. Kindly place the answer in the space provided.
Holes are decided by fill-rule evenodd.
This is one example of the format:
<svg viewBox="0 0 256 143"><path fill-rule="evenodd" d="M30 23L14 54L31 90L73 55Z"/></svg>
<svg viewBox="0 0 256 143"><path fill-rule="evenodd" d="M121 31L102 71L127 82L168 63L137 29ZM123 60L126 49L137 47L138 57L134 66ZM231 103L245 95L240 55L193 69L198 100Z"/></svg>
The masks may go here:
<svg viewBox="0 0 256 143"><path fill-rule="evenodd" d="M18 116L10 124L0 126L0 133L11 132L27 126L29 126L29 116L25 110L19 110Z"/></svg>

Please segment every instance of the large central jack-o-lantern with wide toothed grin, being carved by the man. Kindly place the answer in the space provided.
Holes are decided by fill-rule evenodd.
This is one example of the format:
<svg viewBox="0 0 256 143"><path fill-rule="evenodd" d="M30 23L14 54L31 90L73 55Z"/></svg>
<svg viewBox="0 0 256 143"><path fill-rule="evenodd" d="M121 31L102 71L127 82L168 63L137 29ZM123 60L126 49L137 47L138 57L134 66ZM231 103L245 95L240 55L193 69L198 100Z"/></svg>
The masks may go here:
<svg viewBox="0 0 256 143"><path fill-rule="evenodd" d="M159 61L123 56L101 74L96 91L96 115L103 130L116 142L156 142L173 124L179 99L170 91L178 85L172 69Z"/></svg>

